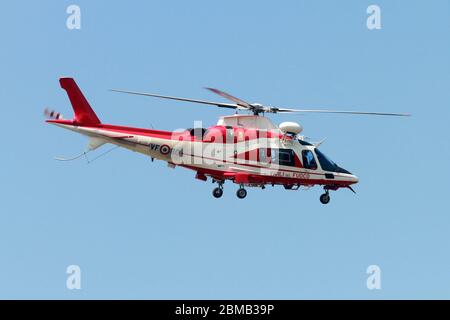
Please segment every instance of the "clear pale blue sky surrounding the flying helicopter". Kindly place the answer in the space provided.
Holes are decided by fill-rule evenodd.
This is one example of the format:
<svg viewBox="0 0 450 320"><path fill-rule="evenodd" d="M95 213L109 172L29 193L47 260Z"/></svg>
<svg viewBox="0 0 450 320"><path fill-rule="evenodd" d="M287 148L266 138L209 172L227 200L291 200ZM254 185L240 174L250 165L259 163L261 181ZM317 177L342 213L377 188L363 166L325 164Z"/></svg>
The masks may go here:
<svg viewBox="0 0 450 320"><path fill-rule="evenodd" d="M81 30L66 8L81 7ZM382 29L366 27L381 7ZM450 298L450 2L7 1L0 11L0 298ZM357 195L249 189L44 124L75 77L105 123L173 130L227 111L110 88L412 118L300 122L360 178ZM108 147L103 147L107 150ZM98 151L101 153L101 151ZM79 265L82 289L66 288ZM368 290L378 265L382 289Z"/></svg>

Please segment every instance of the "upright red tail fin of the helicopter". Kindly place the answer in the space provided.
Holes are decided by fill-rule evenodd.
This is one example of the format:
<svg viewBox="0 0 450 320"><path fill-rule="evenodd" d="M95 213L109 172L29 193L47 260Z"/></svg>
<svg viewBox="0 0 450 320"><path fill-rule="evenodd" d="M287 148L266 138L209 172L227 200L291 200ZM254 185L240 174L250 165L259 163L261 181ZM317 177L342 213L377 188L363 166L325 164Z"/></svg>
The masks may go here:
<svg viewBox="0 0 450 320"><path fill-rule="evenodd" d="M84 97L80 88L72 78L59 79L61 88L66 90L69 96L70 103L72 104L73 111L75 112L75 122L81 125L98 125L100 120L97 118L94 110L92 110L89 102Z"/></svg>

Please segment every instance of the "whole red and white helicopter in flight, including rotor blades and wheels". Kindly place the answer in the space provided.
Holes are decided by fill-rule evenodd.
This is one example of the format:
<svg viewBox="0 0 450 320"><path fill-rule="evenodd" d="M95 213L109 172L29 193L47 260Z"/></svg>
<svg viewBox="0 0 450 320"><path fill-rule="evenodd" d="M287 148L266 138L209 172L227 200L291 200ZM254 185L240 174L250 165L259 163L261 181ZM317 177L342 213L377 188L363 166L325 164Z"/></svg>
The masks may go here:
<svg viewBox="0 0 450 320"><path fill-rule="evenodd" d="M325 193L320 201L330 201L330 190L348 188L358 182L358 177L335 164L319 149L318 144L305 141L299 134L302 127L294 122L274 125L265 113L338 113L383 116L409 116L403 113L355 112L334 110L297 110L252 104L223 91L208 90L232 103L211 102L163 96L151 93L112 90L141 96L157 97L184 102L214 105L236 110L236 114L223 116L217 125L207 129L198 127L177 131L161 131L102 123L92 110L83 93L72 78L61 78L75 116L63 119L61 114L46 110L48 123L72 130L89 138L87 150L75 160L100 146L110 143L149 156L152 160L166 161L170 167L180 166L196 172L196 178L211 178L217 187L213 196L223 195L223 185L229 180L239 185L237 197L247 196L245 187L265 188L281 185L287 190L300 187L323 186ZM237 114L249 111L252 114Z"/></svg>

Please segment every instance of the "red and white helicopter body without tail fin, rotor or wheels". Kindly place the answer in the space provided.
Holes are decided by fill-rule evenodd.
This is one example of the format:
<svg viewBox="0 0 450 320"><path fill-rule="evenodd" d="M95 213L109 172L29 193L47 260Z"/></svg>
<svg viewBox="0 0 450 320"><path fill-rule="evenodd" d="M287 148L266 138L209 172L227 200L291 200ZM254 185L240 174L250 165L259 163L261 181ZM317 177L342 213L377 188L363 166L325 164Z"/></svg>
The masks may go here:
<svg viewBox="0 0 450 320"><path fill-rule="evenodd" d="M170 132L107 124L83 126L71 120L48 122L86 135L100 145L112 143L172 167L194 170L200 180L211 177L240 185L287 188L324 185L334 190L358 182L355 175L319 157L313 144L273 128L217 125Z"/></svg>

